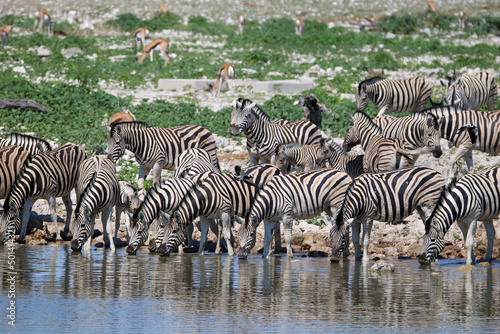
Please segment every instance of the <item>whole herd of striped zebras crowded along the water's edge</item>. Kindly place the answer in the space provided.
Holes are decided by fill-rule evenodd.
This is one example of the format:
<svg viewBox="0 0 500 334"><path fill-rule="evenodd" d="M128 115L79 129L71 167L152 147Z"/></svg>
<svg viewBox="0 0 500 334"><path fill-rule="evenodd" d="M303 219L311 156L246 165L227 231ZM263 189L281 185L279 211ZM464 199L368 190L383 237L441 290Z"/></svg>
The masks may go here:
<svg viewBox="0 0 500 334"><path fill-rule="evenodd" d="M209 130L198 126L150 127L144 122L118 122L109 129L108 155L88 158L75 145L52 150L42 139L11 134L0 143L2 175L0 194L5 199L1 216L0 242L26 235L33 203L45 198L57 227L55 198L66 206L63 236L72 228L71 248L90 250L95 217L102 212L104 240L115 248L122 211L127 211L127 253L135 254L149 240L149 250L161 255L182 251L187 236L199 219L204 253L210 228L217 231L229 255L235 241L232 224L238 222L238 256L246 258L256 243L256 230L264 222L263 257L281 248L283 224L287 255L292 256L292 228L296 219L309 219L322 212L331 222L332 253L339 261L349 255L349 233L356 260L368 260L373 220L398 222L416 209L425 224L421 263L436 259L444 247L444 235L457 221L467 249L467 264L474 263L472 246L477 221L483 221L488 239L486 261L491 261L495 229L500 214L498 167L455 177L445 185L438 171L414 166L417 157L442 154L440 139L457 147L453 165L464 157L473 170L472 150L500 153L500 112L492 111L497 87L491 75L449 77L443 102L425 109L431 90L421 78L390 80L371 78L360 83L357 110L349 115L351 125L343 147L323 137L308 120L289 123L271 120L256 103L243 98L234 101L231 135L244 133L250 155L249 167L235 167L222 173L217 145ZM379 115L364 113L372 101ZM476 111L487 105L490 112ZM393 117L386 111L413 111ZM347 153L361 144L363 155ZM129 150L139 164L138 188L153 171L154 185L139 201L130 184L118 181L115 163ZM173 176L161 178L163 169ZM70 192L76 190L77 205L71 224ZM113 207L116 222L107 224ZM360 245L360 233L363 235ZM361 246L363 253L361 253Z"/></svg>

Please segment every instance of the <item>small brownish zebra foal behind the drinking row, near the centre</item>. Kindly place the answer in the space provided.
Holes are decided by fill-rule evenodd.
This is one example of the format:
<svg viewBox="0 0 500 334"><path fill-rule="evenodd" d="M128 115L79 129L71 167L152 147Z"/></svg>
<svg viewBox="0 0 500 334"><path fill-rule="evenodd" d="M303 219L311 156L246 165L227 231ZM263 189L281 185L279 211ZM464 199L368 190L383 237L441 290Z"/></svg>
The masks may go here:
<svg viewBox="0 0 500 334"><path fill-rule="evenodd" d="M299 143L281 144L276 147L276 161L274 165L282 173L308 172L319 168L324 168L326 160L318 164L318 155L325 147L325 139L312 145L302 145Z"/></svg>

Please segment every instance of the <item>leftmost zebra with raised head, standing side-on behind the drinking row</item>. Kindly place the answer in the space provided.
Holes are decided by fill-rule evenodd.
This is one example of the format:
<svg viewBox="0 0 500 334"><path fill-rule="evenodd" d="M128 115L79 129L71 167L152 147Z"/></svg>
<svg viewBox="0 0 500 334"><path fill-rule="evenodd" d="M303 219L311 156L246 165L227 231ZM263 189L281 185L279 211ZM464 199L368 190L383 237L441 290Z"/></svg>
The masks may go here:
<svg viewBox="0 0 500 334"><path fill-rule="evenodd" d="M173 128L150 128L143 122L121 122L111 127L108 139L108 154L116 161L132 151L139 164L137 186L144 189L144 178L153 169L153 180L160 181L162 169L173 170L175 158L188 148L205 149L214 166L217 161L217 145L210 131L198 125L184 125Z"/></svg>

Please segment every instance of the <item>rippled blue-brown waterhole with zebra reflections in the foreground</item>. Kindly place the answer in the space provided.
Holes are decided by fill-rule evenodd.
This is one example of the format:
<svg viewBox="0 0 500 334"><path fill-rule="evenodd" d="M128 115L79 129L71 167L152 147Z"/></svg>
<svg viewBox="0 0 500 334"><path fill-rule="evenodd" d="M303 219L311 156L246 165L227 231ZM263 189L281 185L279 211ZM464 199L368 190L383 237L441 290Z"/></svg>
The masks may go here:
<svg viewBox="0 0 500 334"><path fill-rule="evenodd" d="M2 333L12 330L7 252L0 249ZM370 264L298 256L86 255L68 245L20 246L15 255L23 333L493 333L500 324L500 262L462 272L464 261L429 268L392 259L394 273L373 273Z"/></svg>

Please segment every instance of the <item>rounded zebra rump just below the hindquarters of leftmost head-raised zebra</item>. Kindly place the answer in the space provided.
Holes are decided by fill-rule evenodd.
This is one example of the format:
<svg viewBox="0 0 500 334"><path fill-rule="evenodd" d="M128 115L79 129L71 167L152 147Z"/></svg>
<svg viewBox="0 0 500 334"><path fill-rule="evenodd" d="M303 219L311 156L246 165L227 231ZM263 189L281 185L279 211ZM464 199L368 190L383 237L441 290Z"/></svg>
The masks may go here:
<svg viewBox="0 0 500 334"><path fill-rule="evenodd" d="M215 157L217 159L217 157ZM204 172L220 172L219 161L212 163L210 154L201 148L190 148L175 159L174 177L189 178Z"/></svg>

